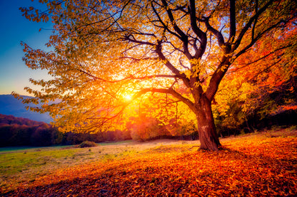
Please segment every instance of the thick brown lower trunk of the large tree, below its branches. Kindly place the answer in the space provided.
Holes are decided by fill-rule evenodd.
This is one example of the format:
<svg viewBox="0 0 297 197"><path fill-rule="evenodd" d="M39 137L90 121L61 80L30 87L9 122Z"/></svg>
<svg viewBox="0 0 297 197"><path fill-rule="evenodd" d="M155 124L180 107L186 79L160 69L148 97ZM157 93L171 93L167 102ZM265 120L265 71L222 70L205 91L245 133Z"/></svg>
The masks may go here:
<svg viewBox="0 0 297 197"><path fill-rule="evenodd" d="M201 143L200 149L218 151L218 147L220 147L221 144L218 140L218 134L216 133L216 126L211 111L211 101L206 97L202 97L197 108L196 117L198 135Z"/></svg>

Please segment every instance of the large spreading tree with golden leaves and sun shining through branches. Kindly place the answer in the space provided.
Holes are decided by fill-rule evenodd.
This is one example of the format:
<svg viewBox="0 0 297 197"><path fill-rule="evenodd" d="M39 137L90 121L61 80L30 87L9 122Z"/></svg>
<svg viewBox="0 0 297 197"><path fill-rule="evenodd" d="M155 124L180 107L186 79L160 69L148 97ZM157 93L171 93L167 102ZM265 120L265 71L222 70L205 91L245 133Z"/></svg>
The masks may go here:
<svg viewBox="0 0 297 197"><path fill-rule="evenodd" d="M26 87L36 98L24 102L61 102L32 110L51 112L64 129L96 130L142 97L170 95L196 115L201 149L210 150L220 146L211 104L224 75L261 39L294 23L297 9L291 0L40 2L47 11L21 10L54 23L52 51L23 43L24 61L52 79L31 79L42 88Z"/></svg>

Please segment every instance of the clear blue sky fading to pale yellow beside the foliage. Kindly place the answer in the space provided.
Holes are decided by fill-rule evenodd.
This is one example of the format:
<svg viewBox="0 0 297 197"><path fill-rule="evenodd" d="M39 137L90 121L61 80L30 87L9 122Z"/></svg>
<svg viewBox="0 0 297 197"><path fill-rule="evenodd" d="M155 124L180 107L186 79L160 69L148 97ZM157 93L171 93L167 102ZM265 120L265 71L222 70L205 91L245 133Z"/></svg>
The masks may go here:
<svg viewBox="0 0 297 197"><path fill-rule="evenodd" d="M21 41L32 48L45 48L51 35L51 23L36 23L21 16L19 7L27 6L44 7L38 0L0 0L0 95L12 91L28 95L24 87L34 87L29 78L47 78L45 71L31 70L21 60L24 56ZM41 32L39 28L43 28Z"/></svg>

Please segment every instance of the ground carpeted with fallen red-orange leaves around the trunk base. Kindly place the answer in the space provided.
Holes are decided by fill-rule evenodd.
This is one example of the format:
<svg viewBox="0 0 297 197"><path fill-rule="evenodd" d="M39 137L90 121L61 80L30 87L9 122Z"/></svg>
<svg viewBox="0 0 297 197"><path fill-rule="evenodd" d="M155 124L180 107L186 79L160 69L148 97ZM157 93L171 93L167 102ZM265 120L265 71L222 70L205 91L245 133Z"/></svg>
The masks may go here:
<svg viewBox="0 0 297 197"><path fill-rule="evenodd" d="M264 137L263 137L264 136ZM217 152L191 144L57 169L2 196L296 196L297 137L222 140Z"/></svg>

